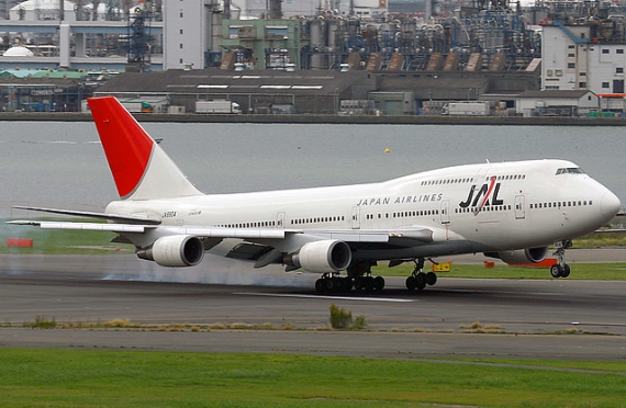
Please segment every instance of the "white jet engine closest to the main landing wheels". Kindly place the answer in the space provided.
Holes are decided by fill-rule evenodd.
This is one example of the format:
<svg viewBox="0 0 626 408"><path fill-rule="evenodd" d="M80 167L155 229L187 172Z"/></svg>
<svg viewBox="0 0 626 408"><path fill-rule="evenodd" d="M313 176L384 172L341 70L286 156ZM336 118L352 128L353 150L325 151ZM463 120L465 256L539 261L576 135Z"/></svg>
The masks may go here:
<svg viewBox="0 0 626 408"><path fill-rule="evenodd" d="M350 247L337 239L308 242L295 253L288 254L284 263L302 268L308 272L339 272L353 260Z"/></svg>

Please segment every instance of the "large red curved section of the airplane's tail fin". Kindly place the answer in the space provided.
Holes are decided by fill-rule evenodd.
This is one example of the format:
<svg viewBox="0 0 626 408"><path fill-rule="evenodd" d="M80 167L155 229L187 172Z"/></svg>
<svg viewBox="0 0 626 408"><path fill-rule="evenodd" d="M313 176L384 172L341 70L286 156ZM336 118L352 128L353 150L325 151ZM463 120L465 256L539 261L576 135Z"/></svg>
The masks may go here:
<svg viewBox="0 0 626 408"><path fill-rule="evenodd" d="M154 140L114 97L87 100L120 197L142 181Z"/></svg>

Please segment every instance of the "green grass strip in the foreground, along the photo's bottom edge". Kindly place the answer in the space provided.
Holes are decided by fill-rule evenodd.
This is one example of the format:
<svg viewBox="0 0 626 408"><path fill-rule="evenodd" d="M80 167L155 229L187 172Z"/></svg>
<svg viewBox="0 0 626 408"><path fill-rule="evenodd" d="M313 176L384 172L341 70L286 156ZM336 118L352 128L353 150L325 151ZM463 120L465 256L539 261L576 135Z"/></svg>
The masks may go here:
<svg viewBox="0 0 626 408"><path fill-rule="evenodd" d="M210 341L210 335L208 341ZM626 363L0 350L1 407L623 407ZM524 366L521 366L523 364ZM608 372L612 371L612 372Z"/></svg>

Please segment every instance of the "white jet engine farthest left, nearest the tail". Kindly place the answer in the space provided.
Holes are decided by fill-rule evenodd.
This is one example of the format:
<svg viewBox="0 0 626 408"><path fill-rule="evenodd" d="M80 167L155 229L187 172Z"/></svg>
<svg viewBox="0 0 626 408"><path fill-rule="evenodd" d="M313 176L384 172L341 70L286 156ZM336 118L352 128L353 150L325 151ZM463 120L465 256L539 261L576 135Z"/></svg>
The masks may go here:
<svg viewBox="0 0 626 408"><path fill-rule="evenodd" d="M138 251L137 257L161 267L194 267L204 258L204 246L195 236L171 235L157 239L150 248Z"/></svg>

